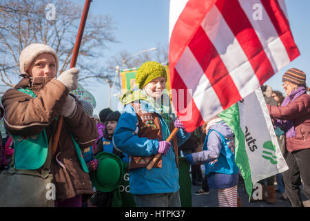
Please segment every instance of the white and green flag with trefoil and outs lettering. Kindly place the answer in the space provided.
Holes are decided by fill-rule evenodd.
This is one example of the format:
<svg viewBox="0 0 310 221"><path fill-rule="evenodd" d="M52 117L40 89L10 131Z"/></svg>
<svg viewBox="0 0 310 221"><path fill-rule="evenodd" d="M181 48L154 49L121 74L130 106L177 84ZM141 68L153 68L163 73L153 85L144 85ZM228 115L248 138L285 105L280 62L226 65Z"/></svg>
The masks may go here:
<svg viewBox="0 0 310 221"><path fill-rule="evenodd" d="M249 197L258 181L288 168L260 88L219 114L234 131L236 164Z"/></svg>

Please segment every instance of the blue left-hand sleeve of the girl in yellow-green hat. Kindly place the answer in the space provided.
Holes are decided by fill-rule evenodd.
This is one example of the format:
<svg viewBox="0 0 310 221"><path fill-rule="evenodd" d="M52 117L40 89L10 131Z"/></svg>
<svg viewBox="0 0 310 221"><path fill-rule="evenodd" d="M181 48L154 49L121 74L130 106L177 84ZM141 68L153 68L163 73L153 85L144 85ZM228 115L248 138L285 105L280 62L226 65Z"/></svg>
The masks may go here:
<svg viewBox="0 0 310 221"><path fill-rule="evenodd" d="M148 157L158 151L159 140L138 137L138 119L132 105L127 104L113 134L114 146L132 156Z"/></svg>

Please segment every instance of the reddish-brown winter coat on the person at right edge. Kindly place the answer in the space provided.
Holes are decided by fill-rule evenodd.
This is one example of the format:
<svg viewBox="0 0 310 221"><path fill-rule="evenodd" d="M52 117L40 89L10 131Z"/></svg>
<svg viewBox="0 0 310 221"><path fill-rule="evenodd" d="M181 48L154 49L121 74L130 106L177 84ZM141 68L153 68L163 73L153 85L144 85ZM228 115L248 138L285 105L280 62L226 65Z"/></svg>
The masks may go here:
<svg viewBox="0 0 310 221"><path fill-rule="evenodd" d="M271 117L291 119L296 137L287 137L287 151L298 151L310 148L310 96L307 94L296 98L287 106L269 106Z"/></svg>

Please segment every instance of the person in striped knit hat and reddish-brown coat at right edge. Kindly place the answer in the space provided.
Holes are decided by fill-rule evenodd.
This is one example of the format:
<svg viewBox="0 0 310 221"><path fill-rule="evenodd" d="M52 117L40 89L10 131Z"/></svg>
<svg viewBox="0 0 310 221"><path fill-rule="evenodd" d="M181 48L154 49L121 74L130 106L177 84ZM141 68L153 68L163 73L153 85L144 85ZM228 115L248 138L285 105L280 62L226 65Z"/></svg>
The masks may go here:
<svg viewBox="0 0 310 221"><path fill-rule="evenodd" d="M299 186L303 182L303 193L310 199L310 96L306 86L306 74L290 68L282 77L285 97L281 106L267 104L269 114L278 119L285 128L287 154L285 161L289 169L283 172L285 193L293 207L302 207Z"/></svg>

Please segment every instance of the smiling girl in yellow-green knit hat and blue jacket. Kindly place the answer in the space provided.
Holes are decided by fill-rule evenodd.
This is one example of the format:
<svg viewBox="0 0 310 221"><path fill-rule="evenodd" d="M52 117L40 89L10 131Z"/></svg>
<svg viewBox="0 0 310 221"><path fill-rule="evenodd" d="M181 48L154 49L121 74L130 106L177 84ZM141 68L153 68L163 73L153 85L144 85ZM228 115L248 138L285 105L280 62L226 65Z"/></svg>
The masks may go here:
<svg viewBox="0 0 310 221"><path fill-rule="evenodd" d="M190 133L174 117L170 99L165 94L167 73L155 61L147 61L138 68L136 84L139 90L128 91L121 97L125 105L114 131L114 145L130 155L130 193L136 206L181 206L178 184L178 145ZM167 137L179 128L172 142ZM148 170L152 157L161 157Z"/></svg>

